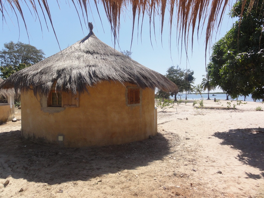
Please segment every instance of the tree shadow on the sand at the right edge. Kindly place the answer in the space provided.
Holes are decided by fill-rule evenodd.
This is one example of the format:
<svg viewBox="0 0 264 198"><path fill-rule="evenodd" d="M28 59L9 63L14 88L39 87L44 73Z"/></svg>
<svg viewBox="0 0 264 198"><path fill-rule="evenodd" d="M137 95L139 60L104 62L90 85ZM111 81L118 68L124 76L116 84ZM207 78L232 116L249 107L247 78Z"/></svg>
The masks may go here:
<svg viewBox="0 0 264 198"><path fill-rule="evenodd" d="M264 128L230 129L227 132L216 132L213 136L222 139L222 145L240 150L237 159L241 163L264 171ZM260 177L251 173L247 175L248 178ZM264 177L264 172L261 175Z"/></svg>

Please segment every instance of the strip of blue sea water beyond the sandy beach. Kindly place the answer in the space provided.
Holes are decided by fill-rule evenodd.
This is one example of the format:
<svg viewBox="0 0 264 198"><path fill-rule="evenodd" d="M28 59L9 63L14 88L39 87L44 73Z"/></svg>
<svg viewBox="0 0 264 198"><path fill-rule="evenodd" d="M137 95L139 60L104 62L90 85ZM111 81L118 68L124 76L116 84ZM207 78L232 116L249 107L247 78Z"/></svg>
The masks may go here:
<svg viewBox="0 0 264 198"><path fill-rule="evenodd" d="M181 94L181 93L180 93ZM204 98L204 100L206 100L208 98L208 94L202 94L202 97ZM187 94L187 100L201 100L201 95L195 95L195 94ZM171 97L174 99L174 96ZM177 98L181 98L183 100L185 100L185 93L182 93L182 96L177 95ZM226 94L216 94L216 96L212 96L211 93L209 93L209 98L211 100L214 100L214 98L216 98L216 100L225 100L227 99L227 95ZM232 100L231 97L229 97L229 100ZM237 100L236 98L234 100ZM238 100L242 100L244 101L244 97L238 97ZM248 97L246 97L246 101L252 101L253 99L251 98L251 95L249 95ZM262 100L257 100L256 102L262 102Z"/></svg>

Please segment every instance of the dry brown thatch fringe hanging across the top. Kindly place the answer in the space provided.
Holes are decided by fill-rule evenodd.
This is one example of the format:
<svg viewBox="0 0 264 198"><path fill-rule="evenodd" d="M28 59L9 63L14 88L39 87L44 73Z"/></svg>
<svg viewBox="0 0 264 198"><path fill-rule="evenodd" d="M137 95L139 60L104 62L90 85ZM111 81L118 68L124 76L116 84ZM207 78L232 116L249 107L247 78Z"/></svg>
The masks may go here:
<svg viewBox="0 0 264 198"><path fill-rule="evenodd" d="M244 7L246 6L247 0L241 0L242 3L242 11L241 16L244 11ZM249 0L248 11L251 10L254 2L258 0ZM264 0L260 0L264 2ZM59 1L57 1L59 4ZM85 23L88 22L88 9L90 7L91 2L88 0L72 0L73 7L75 7L77 11L77 15L83 17ZM153 24L155 26L155 16L159 16L161 21L161 34L163 32L163 25L164 25L164 16L165 12L169 13L169 27L170 27L170 34L172 29L172 24L175 23L177 29L180 31L178 35L178 39L184 39L182 43L188 45L188 36L189 33L191 34L191 38L193 39L193 35L195 29L197 29L197 33L200 29L204 26L206 27L206 47L208 45L209 40L211 39L212 32L214 27L219 27L221 23L221 19L223 17L225 8L228 6L229 3L233 3L231 0L155 0L155 1L148 1L148 0L101 0L101 1L93 1L97 8L98 4L103 4L106 16L111 24L112 34L114 35L114 40L116 41L119 26L120 26L120 15L122 12L130 12L129 9L131 8L132 12L132 19L133 19L133 31L132 31L132 39L133 39L133 32L134 32L134 25L137 18L138 23L140 23L139 18L142 16L141 25L143 25L143 18L147 15L149 18L149 24ZM38 11L43 13L45 22L49 21L51 26L53 27L53 23L51 20L51 13L49 10L49 5L47 1L35 1L35 0L25 0L27 7L29 8L32 16L35 16L39 19L41 24ZM14 12L17 16L21 15L23 22L26 26L26 21L23 16L23 12L28 12L28 10L23 10L21 8L21 3L17 0L0 0L0 11L2 12L3 20L5 16L9 15L10 12ZM79 11L78 11L79 8ZM74 9L74 8L73 8ZM92 12L92 10L91 10ZM99 14L98 8L97 12ZM100 14L99 14L100 15ZM260 16L263 18L263 16ZM18 20L18 19L17 19ZM81 19L80 19L81 22ZM206 24L207 23L207 24ZM82 25L82 23L81 23ZM48 27L48 26L47 26ZM42 29L42 27L41 27ZM53 27L54 34L56 36L54 27ZM58 40L57 40L58 41ZM193 43L193 41L191 41Z"/></svg>

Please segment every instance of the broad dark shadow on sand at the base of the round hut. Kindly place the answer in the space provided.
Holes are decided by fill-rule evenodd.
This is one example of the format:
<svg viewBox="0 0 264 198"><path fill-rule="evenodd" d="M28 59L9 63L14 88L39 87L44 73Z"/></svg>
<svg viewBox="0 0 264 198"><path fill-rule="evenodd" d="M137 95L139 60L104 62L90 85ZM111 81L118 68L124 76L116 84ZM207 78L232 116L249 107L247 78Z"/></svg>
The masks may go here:
<svg viewBox="0 0 264 198"><path fill-rule="evenodd" d="M21 130L3 132L0 133L0 178L11 176L53 185L118 174L163 160L170 154L165 136L158 133L153 139L106 147L60 148L24 139Z"/></svg>

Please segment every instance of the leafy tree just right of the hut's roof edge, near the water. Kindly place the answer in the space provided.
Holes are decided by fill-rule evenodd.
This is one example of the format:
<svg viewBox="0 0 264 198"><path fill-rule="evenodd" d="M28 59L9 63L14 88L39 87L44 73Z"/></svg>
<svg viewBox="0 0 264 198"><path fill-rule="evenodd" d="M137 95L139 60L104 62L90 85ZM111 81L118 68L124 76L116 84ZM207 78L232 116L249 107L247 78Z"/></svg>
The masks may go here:
<svg viewBox="0 0 264 198"><path fill-rule="evenodd" d="M191 83L195 80L194 71L184 70L175 66L171 66L167 69L166 77L170 79L173 83L178 86L177 92L171 92L171 96L174 95L174 101L177 101L177 93L182 93L183 91L189 91L192 89Z"/></svg>

